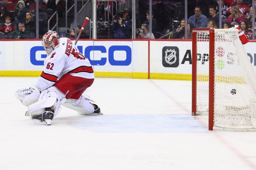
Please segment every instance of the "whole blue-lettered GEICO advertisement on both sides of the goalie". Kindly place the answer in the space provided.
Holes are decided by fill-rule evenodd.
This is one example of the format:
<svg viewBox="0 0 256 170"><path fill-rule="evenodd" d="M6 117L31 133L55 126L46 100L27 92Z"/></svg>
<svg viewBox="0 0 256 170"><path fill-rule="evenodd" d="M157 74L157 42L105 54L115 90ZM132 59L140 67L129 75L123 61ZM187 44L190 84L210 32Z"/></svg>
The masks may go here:
<svg viewBox="0 0 256 170"><path fill-rule="evenodd" d="M77 47L94 71L132 72L132 41L79 41ZM46 58L42 44L28 43L24 48L27 69L42 69Z"/></svg>

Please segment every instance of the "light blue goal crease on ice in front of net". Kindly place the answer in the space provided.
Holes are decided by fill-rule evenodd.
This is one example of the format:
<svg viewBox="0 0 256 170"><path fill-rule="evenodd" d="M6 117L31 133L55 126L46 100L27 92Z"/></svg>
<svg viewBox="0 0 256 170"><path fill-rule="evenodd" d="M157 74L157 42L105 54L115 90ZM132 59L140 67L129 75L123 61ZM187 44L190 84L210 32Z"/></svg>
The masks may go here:
<svg viewBox="0 0 256 170"><path fill-rule="evenodd" d="M190 115L100 115L84 116L74 126L98 132L206 132Z"/></svg>

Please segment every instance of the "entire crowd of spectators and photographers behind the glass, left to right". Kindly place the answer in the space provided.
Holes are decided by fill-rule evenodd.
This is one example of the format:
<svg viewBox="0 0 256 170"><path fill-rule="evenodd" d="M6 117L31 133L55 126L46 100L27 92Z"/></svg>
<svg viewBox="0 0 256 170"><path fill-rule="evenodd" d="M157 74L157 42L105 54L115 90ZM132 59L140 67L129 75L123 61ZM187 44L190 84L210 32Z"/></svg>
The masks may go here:
<svg viewBox="0 0 256 170"><path fill-rule="evenodd" d="M36 38L36 11L31 7L35 6L36 0L0 0L0 39L35 39ZM39 0L39 12L45 12L48 19L58 10L58 4L64 0ZM221 12L219 4L221 1ZM187 35L188 39L192 38L192 29L199 27L213 28L232 28L235 25L240 25L247 37L252 39L252 22L255 23L252 16L252 1L251 0L212 0L214 5L208 6L207 12L202 12L201 6L194 8L194 15L188 16ZM98 2L97 2L98 3ZM100 4L97 4L100 7ZM112 4L110 4L112 5ZM13 9L11 9L11 6ZM256 6L256 0L255 0ZM64 8L64 7L63 7ZM99 8L100 9L100 8ZM110 10L111 7L103 8ZM145 10L146 11L146 10ZM157 39L159 34L159 22L154 17L157 11L152 11L152 25L149 23L149 11L143 11L143 19L140 25L137 24L136 38L139 39ZM121 12L121 13L120 13ZM113 39L131 39L132 38L132 11L125 7L123 11L113 17L113 22L109 30L113 33ZM102 12L104 14L104 12ZM221 27L220 17L221 15ZM185 19L183 15L179 16L182 19L179 26L172 31L172 39L185 39ZM256 12L255 12L256 18ZM47 22L47 21L46 21ZM56 21L55 21L56 22ZM142 24L141 24L142 23ZM46 24L43 24L44 26ZM160 24L161 25L161 24ZM256 24L255 24L256 25ZM40 33L45 33L48 30L39 28ZM152 34L149 30L152 28ZM81 26L77 25L77 34L81 30ZM39 33L39 34L40 34ZM70 38L75 37L74 30L69 33ZM81 35L81 39L88 39L89 35Z"/></svg>

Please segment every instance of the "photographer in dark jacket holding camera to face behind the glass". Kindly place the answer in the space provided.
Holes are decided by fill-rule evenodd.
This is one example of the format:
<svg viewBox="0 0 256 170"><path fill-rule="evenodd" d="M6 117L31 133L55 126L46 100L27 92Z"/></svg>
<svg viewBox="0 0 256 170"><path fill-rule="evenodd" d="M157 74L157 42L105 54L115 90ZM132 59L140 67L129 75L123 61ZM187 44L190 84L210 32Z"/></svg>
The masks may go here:
<svg viewBox="0 0 256 170"><path fill-rule="evenodd" d="M123 12L118 20L114 20L111 30L114 31L114 39L131 39L132 21L129 19L129 8Z"/></svg>

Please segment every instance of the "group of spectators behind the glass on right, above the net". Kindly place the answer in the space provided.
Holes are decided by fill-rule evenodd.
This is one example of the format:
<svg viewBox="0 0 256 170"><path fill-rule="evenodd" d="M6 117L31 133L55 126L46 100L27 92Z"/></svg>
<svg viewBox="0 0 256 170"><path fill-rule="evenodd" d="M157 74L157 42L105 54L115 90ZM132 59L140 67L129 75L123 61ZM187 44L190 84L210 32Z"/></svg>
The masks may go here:
<svg viewBox="0 0 256 170"><path fill-rule="evenodd" d="M251 1L249 1L251 2ZM200 27L213 27L219 28L219 4L220 0L216 1L215 6L208 7L208 14L202 14L200 6L195 7L195 15L188 18L188 24L192 23L195 28ZM255 1L256 7L256 1ZM256 9L255 9L256 11ZM209 16L208 18L206 16ZM255 12L256 17L256 12ZM252 4L244 2L244 0L221 0L221 28L233 28L235 25L239 25L245 32L248 39L252 39ZM255 20L256 21L256 20ZM254 21L254 22L255 22ZM256 25L256 23L255 23ZM185 21L180 21L180 27L174 31L173 39L184 39ZM178 36L179 35L179 36ZM191 36L188 36L191 39Z"/></svg>

